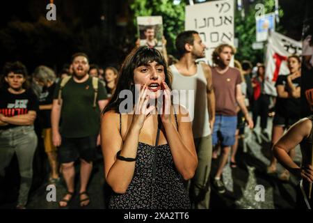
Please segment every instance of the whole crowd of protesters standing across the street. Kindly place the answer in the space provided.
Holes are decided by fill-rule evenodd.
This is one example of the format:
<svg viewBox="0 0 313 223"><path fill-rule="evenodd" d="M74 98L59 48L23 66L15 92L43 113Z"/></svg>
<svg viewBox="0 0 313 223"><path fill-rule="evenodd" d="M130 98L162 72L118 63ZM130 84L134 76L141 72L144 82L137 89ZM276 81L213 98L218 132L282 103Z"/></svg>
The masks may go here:
<svg viewBox="0 0 313 223"><path fill-rule="evenodd" d="M147 36L153 40L149 31ZM239 140L245 140L246 127L253 130L259 116L261 134L273 148L266 172L275 174L277 157L286 167L278 178L287 181L290 173L302 177L304 194L312 203L307 193L313 180L307 152L312 147L312 118L300 119L300 57L288 57L290 73L279 75L274 97L264 90L264 64L254 69L250 61L234 61L232 68L236 54L232 45L216 47L211 66L197 62L207 47L198 32L179 33L175 45L178 59L167 55L164 38L161 51L150 42L137 43L119 72L90 64L83 53L74 54L59 77L51 68L38 66L29 78L21 62L5 64L0 89L0 177L16 153L21 178L17 208L26 207L33 156L38 137L43 137L51 170L47 180L55 184L63 178L67 188L58 201L61 207L74 197L77 160L80 206L90 203L87 185L101 146L104 178L112 190L109 208L208 209L211 187L225 193L223 169L227 162L237 167ZM125 91L135 96L130 103L125 103ZM178 103L173 91L179 92ZM269 134L271 107L275 116ZM35 120L40 134L34 131ZM292 161L297 144L302 167ZM218 159L218 168L212 175L213 159Z"/></svg>

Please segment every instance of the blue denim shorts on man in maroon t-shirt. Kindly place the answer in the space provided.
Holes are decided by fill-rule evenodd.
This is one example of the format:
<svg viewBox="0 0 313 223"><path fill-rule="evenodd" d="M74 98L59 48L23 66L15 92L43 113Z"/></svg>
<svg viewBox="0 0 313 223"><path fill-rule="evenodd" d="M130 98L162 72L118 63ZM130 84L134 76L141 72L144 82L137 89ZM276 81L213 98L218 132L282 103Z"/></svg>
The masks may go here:
<svg viewBox="0 0 313 223"><path fill-rule="evenodd" d="M220 116L215 117L215 123L212 133L212 144L216 146L218 141L220 145L232 146L235 141L237 127L237 116Z"/></svg>

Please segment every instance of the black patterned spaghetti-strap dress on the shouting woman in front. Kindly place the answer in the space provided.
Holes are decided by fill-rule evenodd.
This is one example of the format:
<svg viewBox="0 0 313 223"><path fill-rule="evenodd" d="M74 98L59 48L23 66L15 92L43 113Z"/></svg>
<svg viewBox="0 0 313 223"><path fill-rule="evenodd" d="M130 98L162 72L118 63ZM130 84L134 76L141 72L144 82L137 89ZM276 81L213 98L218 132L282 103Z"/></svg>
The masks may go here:
<svg viewBox="0 0 313 223"><path fill-rule="evenodd" d="M177 117L175 115L177 123ZM178 124L177 124L178 126ZM120 114L120 134L122 121ZM168 144L138 142L134 176L125 194L113 193L109 208L117 209L188 209L191 203L184 179L175 168ZM122 135L122 134L121 134Z"/></svg>

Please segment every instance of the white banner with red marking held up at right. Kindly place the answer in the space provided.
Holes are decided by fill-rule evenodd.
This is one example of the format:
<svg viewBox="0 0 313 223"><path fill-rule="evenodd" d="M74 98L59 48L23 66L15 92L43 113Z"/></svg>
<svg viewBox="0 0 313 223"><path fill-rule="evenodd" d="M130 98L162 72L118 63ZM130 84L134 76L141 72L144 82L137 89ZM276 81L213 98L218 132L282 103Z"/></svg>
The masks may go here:
<svg viewBox="0 0 313 223"><path fill-rule="evenodd" d="M280 33L271 32L268 36L268 45L265 59L264 91L268 95L277 96L275 82L278 75L288 75L288 56L302 53L302 43Z"/></svg>

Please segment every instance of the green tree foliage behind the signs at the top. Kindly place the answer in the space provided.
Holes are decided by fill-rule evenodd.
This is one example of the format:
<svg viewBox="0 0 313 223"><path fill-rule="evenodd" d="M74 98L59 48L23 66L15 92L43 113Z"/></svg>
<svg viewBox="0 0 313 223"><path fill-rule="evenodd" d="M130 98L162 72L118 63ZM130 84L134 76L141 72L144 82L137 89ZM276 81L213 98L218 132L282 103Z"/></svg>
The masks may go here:
<svg viewBox="0 0 313 223"><path fill-rule="evenodd" d="M242 61L248 59L252 63L262 62L264 49L252 49L252 43L256 42L255 33L255 4L263 3L265 14L272 13L275 10L275 1L256 1L246 8L246 16L241 17L241 12L235 10L235 36L239 39L236 59ZM164 34L168 40L168 52L175 55L175 38L177 34L184 31L185 20L185 1L179 5L174 5L170 0L134 0L130 3L130 8L134 13L134 29L136 30L136 17L161 15L163 17ZM282 17L283 11L279 9L279 17ZM282 26L276 24L276 31L284 33ZM265 47L265 44L264 44Z"/></svg>

